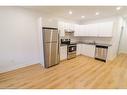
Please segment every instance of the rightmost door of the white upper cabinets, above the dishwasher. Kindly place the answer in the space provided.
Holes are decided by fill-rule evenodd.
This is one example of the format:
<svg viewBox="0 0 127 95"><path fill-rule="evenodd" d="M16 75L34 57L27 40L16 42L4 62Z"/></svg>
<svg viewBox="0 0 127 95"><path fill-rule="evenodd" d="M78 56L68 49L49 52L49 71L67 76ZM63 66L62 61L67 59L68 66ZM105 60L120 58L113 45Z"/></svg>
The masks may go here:
<svg viewBox="0 0 127 95"><path fill-rule="evenodd" d="M100 37L112 37L113 32L113 22L104 22L99 24L99 34Z"/></svg>

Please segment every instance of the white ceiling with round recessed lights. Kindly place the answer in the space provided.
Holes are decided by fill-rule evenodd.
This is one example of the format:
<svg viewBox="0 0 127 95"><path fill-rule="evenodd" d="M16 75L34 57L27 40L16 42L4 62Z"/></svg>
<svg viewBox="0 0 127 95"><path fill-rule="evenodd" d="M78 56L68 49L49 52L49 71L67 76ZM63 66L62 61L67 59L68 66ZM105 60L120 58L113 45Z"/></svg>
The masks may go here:
<svg viewBox="0 0 127 95"><path fill-rule="evenodd" d="M77 22L127 14L126 6L122 6L119 11L116 10L116 7L117 6L29 6L24 8L39 12L47 17ZM68 13L69 10L73 12L71 15ZM95 15L96 12L99 12L100 15ZM84 19L81 19L82 15L85 16Z"/></svg>

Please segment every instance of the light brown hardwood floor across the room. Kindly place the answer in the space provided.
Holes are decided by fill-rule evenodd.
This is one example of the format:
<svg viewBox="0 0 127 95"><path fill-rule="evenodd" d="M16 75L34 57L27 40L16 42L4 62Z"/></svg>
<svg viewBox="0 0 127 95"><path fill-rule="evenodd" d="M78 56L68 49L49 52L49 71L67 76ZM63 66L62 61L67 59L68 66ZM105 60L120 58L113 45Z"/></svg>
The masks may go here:
<svg viewBox="0 0 127 95"><path fill-rule="evenodd" d="M106 64L78 56L48 69L36 64L1 73L0 88L127 88L127 55Z"/></svg>

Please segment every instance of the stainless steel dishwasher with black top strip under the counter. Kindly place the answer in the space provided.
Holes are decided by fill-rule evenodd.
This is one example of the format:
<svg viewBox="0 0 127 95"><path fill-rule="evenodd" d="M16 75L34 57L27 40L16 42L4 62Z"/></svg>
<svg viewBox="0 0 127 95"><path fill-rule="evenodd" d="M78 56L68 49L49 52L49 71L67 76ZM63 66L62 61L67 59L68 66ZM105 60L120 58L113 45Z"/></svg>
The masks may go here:
<svg viewBox="0 0 127 95"><path fill-rule="evenodd" d="M95 59L106 62L108 54L108 46L96 45Z"/></svg>

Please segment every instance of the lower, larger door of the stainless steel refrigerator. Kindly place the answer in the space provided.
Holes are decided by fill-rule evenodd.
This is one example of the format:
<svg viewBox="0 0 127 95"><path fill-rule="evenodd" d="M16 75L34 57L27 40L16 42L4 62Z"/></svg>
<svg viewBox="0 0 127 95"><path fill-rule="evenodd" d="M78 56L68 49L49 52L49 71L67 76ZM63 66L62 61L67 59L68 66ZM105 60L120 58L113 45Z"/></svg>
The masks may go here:
<svg viewBox="0 0 127 95"><path fill-rule="evenodd" d="M59 63L58 55L58 43L45 43L44 44L45 53L45 67L56 65Z"/></svg>

